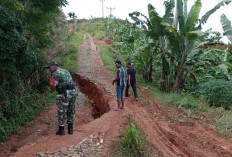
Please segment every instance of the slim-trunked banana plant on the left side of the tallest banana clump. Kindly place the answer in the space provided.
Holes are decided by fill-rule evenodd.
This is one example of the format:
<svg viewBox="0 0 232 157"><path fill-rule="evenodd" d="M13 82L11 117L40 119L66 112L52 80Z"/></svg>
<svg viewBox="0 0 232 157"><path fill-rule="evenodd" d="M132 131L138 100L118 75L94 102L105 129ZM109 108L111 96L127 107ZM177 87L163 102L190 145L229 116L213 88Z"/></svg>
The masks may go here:
<svg viewBox="0 0 232 157"><path fill-rule="evenodd" d="M155 8L149 4L148 5L148 13L149 17L145 16L144 14L140 12L133 12L129 14L129 16L135 21L135 24L143 29L144 34L150 38L153 39L153 41L157 41L159 44L160 49L160 56L162 59L162 78L161 78L161 88L162 89L168 89L170 79L166 77L167 72L169 72L169 69L167 69L167 61L165 58L165 52L167 50L167 37L166 34L169 34L167 29L163 25L161 25L162 21L165 21L168 24L173 23L173 9L175 6L174 0L165 1L165 15L163 17L160 17L158 13L155 11ZM141 19L143 18L143 19ZM165 87L164 87L165 86Z"/></svg>

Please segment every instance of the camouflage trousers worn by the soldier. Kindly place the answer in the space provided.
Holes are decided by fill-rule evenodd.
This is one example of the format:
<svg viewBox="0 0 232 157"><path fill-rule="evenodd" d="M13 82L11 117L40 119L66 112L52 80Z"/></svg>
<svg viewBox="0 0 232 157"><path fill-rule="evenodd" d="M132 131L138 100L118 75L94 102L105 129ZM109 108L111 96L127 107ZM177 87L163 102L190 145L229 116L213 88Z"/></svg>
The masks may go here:
<svg viewBox="0 0 232 157"><path fill-rule="evenodd" d="M58 94L57 99L57 106L58 106L58 124L59 126L65 126L67 123L73 123L74 115L76 112L76 97L77 92L76 90L67 90L67 97L63 94Z"/></svg>

